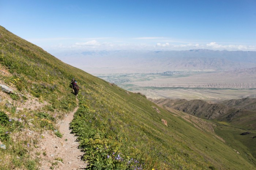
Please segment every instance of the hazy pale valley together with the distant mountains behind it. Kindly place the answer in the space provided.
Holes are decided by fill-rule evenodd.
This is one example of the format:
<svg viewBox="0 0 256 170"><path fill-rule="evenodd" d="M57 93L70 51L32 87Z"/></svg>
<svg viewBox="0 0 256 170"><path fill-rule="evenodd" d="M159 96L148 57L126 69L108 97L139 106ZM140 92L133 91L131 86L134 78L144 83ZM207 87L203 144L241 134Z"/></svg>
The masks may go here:
<svg viewBox="0 0 256 170"><path fill-rule="evenodd" d="M255 51L69 51L56 56L148 98L222 101L256 96Z"/></svg>

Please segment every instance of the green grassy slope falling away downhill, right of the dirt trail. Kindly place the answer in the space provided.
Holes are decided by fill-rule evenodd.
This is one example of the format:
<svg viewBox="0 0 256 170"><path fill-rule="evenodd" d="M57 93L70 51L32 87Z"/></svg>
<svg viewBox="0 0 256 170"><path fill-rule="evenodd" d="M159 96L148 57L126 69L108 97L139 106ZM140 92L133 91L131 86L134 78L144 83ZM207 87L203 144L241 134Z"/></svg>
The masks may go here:
<svg viewBox="0 0 256 170"><path fill-rule="evenodd" d="M79 109L71 123L91 168L255 168L212 134L161 108L157 113L143 96L94 81L80 91ZM131 158L140 163L127 165Z"/></svg>

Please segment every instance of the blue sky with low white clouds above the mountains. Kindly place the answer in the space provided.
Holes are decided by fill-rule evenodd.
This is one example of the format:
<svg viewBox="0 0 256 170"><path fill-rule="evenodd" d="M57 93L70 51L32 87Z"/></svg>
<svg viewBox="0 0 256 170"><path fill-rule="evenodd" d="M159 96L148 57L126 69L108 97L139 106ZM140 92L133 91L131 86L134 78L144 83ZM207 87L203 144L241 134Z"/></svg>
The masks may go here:
<svg viewBox="0 0 256 170"><path fill-rule="evenodd" d="M256 51L256 0L0 0L0 25L46 51Z"/></svg>

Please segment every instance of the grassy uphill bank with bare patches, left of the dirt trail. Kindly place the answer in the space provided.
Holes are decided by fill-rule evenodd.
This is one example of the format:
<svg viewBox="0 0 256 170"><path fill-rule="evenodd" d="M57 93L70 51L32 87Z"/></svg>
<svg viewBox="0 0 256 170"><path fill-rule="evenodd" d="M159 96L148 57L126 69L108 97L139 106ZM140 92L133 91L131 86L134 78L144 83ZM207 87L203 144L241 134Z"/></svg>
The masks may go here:
<svg viewBox="0 0 256 170"><path fill-rule="evenodd" d="M16 89L14 94L9 95L13 100L11 103L1 96L1 116L20 120L9 122L8 117L8 123L0 126L0 140L6 146L6 150L0 150L0 169L37 169L39 161L29 154L37 145L31 143L34 139L22 134L22 130L37 134L54 130L56 119L61 119L76 107L75 96L69 87L71 78L75 77L71 73L76 71L74 67L59 63L59 59L0 26L0 81ZM17 112L17 107L29 96L48 104L38 110L25 108ZM30 127L29 122L35 127ZM15 137L17 134L21 137Z"/></svg>

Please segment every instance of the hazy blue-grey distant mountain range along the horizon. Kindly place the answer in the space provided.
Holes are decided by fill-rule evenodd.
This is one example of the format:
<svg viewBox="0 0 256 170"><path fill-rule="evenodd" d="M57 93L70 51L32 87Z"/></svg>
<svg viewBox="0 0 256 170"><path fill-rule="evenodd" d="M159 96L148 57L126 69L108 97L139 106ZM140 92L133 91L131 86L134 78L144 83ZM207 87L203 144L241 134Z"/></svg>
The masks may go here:
<svg viewBox="0 0 256 170"><path fill-rule="evenodd" d="M173 70L226 71L256 67L256 51L65 51L53 54L90 73L159 73Z"/></svg>

